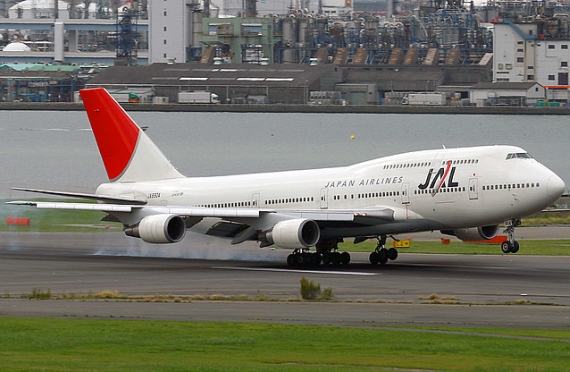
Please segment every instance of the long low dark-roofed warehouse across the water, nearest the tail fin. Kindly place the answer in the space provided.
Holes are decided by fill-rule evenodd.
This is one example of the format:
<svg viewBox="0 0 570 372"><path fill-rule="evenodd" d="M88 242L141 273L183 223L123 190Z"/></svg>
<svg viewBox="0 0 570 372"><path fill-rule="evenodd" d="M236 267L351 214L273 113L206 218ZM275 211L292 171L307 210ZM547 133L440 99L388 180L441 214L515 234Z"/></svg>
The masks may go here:
<svg viewBox="0 0 570 372"><path fill-rule="evenodd" d="M337 66L161 64L110 67L87 86L109 91L151 89L161 103L177 103L180 92L206 91L225 104L304 104L311 91L334 91L342 82Z"/></svg>

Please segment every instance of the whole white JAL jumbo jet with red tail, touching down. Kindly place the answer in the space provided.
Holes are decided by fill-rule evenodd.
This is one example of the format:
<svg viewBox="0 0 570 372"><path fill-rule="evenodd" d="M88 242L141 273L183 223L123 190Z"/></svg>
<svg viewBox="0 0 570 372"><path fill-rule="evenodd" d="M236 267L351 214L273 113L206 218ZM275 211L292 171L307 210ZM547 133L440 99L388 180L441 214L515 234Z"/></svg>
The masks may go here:
<svg viewBox="0 0 570 372"><path fill-rule="evenodd" d="M291 249L291 266L347 265L345 238L377 239L373 265L398 257L388 237L440 230L492 239L516 253L520 219L554 203L563 180L515 146L407 152L312 170L183 176L104 88L80 91L109 182L95 194L15 188L97 203L13 201L37 208L96 210L148 243L180 242L187 230ZM314 247L314 250L312 248Z"/></svg>

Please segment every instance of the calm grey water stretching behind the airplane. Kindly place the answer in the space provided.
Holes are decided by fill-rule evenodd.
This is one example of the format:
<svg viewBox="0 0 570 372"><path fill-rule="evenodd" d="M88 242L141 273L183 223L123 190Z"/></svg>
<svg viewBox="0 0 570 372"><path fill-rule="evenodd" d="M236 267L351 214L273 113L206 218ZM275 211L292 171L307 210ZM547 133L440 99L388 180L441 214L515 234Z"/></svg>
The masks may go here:
<svg viewBox="0 0 570 372"><path fill-rule="evenodd" d="M135 112L185 175L348 165L400 152L523 147L570 185L566 116ZM106 175L84 112L0 111L0 195L93 192ZM354 139L351 139L354 136Z"/></svg>

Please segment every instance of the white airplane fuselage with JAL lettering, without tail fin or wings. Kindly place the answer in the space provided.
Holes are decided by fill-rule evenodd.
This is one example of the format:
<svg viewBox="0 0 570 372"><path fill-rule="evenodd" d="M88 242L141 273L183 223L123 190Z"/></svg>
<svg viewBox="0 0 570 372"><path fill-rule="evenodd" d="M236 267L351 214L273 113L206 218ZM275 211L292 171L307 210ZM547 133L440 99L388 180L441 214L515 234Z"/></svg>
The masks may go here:
<svg viewBox="0 0 570 372"><path fill-rule="evenodd" d="M146 199L148 206L394 211L387 223L322 231L341 237L498 224L542 210L564 187L523 149L485 146L411 152L338 168L105 183L97 193Z"/></svg>

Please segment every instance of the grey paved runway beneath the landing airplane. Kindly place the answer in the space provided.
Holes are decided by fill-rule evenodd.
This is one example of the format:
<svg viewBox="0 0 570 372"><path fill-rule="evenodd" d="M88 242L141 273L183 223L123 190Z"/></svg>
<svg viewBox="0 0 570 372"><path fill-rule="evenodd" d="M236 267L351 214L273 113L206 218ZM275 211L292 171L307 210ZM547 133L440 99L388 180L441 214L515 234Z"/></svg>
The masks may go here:
<svg viewBox="0 0 570 372"><path fill-rule="evenodd" d="M402 253L387 266L372 267L367 253L354 253L347 268L292 270L284 264L287 251L230 247L217 239L194 241L189 248L192 240L185 240L181 247L148 246L120 232L0 234L0 295L4 297L0 316L374 327L570 327L570 257ZM228 250L227 256L220 253ZM206 251L216 252L217 259L196 258L206 257ZM155 257L143 257L148 255ZM334 300L300 301L301 277L322 288L331 287ZM109 290L126 295L261 296L265 301L18 298L34 288L49 289L52 294ZM435 303L442 301L450 304Z"/></svg>

